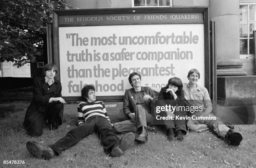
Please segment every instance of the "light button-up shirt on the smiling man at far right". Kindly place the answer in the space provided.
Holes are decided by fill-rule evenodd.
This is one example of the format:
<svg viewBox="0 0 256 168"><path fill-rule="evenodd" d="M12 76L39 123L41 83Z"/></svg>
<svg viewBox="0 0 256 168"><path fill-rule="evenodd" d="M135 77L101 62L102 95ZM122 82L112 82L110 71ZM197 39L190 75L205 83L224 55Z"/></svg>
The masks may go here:
<svg viewBox="0 0 256 168"><path fill-rule="evenodd" d="M185 96L185 105L187 106L197 106L202 107L202 111L204 112L205 108L209 105L212 105L208 90L205 87L197 85L197 87L192 91L189 83L187 83L184 87L184 96Z"/></svg>

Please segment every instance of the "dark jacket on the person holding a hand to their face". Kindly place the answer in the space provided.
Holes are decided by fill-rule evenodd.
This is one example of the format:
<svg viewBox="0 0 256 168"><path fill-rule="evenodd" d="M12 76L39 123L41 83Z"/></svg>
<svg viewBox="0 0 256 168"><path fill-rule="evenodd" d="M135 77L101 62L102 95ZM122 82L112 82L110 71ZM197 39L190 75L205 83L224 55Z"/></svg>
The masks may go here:
<svg viewBox="0 0 256 168"><path fill-rule="evenodd" d="M174 97L169 92L165 92L168 87L163 87L160 90L160 93L158 95L158 100L174 100ZM181 91L177 91L175 93L177 95L177 99L174 101L177 105L183 105L184 104L184 91L183 89Z"/></svg>

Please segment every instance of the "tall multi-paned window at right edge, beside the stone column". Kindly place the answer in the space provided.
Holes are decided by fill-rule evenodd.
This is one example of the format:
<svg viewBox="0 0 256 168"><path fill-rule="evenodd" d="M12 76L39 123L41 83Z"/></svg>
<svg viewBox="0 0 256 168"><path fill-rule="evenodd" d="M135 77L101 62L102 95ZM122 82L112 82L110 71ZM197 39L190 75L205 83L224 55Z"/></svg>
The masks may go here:
<svg viewBox="0 0 256 168"><path fill-rule="evenodd" d="M255 3L240 3L240 58L255 55L253 31L256 30L256 1Z"/></svg>

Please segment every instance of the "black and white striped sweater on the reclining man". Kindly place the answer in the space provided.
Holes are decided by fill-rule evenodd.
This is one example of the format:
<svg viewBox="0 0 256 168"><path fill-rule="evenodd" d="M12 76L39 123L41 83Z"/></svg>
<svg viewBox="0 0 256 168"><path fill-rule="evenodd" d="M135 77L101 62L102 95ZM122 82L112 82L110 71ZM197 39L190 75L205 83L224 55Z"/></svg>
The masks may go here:
<svg viewBox="0 0 256 168"><path fill-rule="evenodd" d="M92 103L82 102L79 103L77 107L78 113L78 125L84 123L88 118L94 115L100 115L108 119L108 122L111 124L110 119L105 108L105 105L102 101L95 101Z"/></svg>

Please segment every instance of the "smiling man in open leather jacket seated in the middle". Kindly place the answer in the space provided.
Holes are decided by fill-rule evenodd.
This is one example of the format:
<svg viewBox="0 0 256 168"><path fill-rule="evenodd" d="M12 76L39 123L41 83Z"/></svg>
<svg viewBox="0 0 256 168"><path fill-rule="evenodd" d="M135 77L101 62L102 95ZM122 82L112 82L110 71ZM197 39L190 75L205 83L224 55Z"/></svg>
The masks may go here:
<svg viewBox="0 0 256 168"><path fill-rule="evenodd" d="M136 132L137 142L146 143L148 140L147 124L151 122L151 100L154 93L149 87L141 86L141 75L133 72L129 75L129 83L133 88L125 91L123 113L130 120L113 125L116 133Z"/></svg>

